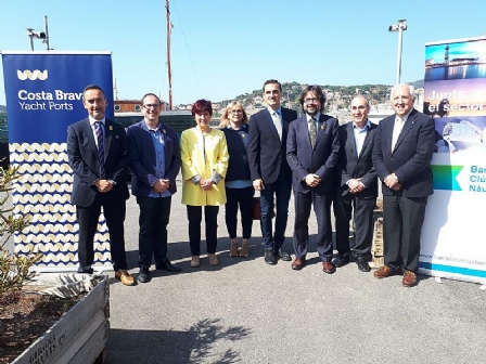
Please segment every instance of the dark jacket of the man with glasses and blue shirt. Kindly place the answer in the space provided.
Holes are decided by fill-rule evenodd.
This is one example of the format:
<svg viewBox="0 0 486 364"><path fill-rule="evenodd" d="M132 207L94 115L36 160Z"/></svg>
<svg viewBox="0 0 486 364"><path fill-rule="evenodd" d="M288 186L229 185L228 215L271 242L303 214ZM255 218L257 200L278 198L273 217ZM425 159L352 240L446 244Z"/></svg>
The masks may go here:
<svg viewBox="0 0 486 364"><path fill-rule="evenodd" d="M165 142L165 176L169 180L169 192L177 192L176 178L180 170L180 147L176 131L161 123L161 131ZM149 196L152 185L158 180L155 177L155 146L145 121L141 120L127 130L130 155L131 193L135 196Z"/></svg>

